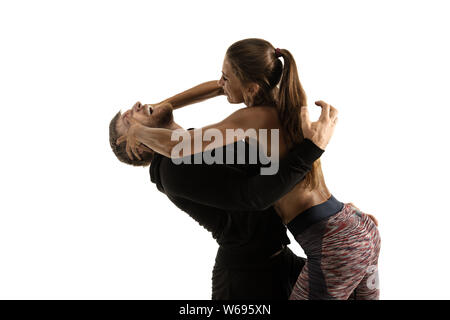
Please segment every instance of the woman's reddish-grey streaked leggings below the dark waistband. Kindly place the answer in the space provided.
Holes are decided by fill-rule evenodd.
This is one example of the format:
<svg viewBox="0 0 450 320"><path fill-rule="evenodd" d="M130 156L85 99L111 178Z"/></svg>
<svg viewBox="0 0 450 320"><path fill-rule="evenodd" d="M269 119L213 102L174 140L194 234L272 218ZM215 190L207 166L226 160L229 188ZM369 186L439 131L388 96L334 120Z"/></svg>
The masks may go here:
<svg viewBox="0 0 450 320"><path fill-rule="evenodd" d="M380 235L368 215L346 203L342 211L294 236L307 262L291 300L379 299Z"/></svg>

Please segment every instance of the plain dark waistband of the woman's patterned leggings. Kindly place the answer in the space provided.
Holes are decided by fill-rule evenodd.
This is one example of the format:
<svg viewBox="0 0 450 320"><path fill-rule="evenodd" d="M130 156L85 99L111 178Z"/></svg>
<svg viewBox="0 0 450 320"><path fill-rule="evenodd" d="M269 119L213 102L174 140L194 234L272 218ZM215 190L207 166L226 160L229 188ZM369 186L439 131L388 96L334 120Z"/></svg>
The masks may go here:
<svg viewBox="0 0 450 320"><path fill-rule="evenodd" d="M297 215L291 222L287 224L289 231L295 236L302 233L315 223L335 215L342 211L344 204L336 200L333 195L324 203L312 206Z"/></svg>

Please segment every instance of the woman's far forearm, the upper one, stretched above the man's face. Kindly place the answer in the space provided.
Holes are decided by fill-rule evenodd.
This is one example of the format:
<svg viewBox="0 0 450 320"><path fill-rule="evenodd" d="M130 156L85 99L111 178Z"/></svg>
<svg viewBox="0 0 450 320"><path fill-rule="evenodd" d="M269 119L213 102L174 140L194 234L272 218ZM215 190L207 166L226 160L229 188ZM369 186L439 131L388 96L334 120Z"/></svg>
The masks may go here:
<svg viewBox="0 0 450 320"><path fill-rule="evenodd" d="M155 106L168 102L172 104L174 109L179 109L193 103L217 97L219 95L223 95L223 89L219 86L217 80L213 80L204 82L198 86L174 95L173 97L157 103Z"/></svg>

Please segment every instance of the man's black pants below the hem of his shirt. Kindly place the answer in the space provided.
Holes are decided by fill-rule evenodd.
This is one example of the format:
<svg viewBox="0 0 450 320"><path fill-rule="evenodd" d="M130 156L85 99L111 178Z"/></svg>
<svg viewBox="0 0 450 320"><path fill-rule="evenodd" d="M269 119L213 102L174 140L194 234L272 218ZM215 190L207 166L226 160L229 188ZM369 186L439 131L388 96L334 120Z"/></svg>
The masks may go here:
<svg viewBox="0 0 450 320"><path fill-rule="evenodd" d="M287 300L306 259L288 247L266 263L239 266L215 265L213 300Z"/></svg>

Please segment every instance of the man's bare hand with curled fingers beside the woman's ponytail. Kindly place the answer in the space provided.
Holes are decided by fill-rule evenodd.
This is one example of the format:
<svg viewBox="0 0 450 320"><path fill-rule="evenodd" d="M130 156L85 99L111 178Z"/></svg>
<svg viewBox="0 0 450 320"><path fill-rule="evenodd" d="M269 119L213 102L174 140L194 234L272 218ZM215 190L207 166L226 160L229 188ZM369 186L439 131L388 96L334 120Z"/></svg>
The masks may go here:
<svg viewBox="0 0 450 320"><path fill-rule="evenodd" d="M336 127L338 111L322 100L315 103L322 107L322 113L316 122L309 120L308 107L303 106L301 108L303 137L311 140L320 149L325 150Z"/></svg>

